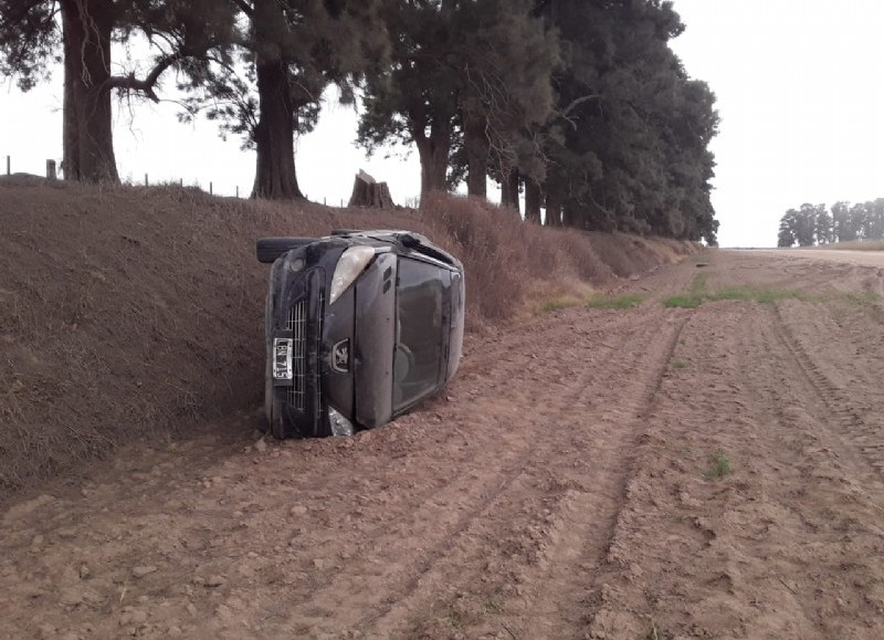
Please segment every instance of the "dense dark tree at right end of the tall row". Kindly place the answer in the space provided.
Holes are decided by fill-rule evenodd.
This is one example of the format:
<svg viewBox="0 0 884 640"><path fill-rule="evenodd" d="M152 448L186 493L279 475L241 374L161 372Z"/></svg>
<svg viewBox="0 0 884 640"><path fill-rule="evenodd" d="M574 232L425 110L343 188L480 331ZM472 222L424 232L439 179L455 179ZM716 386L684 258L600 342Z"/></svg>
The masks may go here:
<svg viewBox="0 0 884 640"><path fill-rule="evenodd" d="M687 77L669 41L671 2L549 0L565 65L547 136L547 219L715 243L709 199L715 96Z"/></svg>

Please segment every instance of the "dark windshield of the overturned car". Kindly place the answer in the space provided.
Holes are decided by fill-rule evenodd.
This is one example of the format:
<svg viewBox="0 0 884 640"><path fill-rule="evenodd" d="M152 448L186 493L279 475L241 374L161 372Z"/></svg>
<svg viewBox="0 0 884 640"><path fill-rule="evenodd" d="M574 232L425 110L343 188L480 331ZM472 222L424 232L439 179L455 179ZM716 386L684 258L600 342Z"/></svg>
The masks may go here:
<svg viewBox="0 0 884 640"><path fill-rule="evenodd" d="M448 270L401 258L397 277L393 411L436 390L444 370L443 305Z"/></svg>

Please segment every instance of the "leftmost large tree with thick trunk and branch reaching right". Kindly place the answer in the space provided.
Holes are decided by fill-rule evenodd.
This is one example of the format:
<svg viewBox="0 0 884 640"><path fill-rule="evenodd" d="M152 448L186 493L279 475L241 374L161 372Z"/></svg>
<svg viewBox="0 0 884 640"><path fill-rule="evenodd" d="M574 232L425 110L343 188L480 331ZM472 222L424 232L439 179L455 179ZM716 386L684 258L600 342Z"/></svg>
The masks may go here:
<svg viewBox="0 0 884 640"><path fill-rule="evenodd" d="M19 87L28 91L62 62L64 177L118 181L112 93L159 101L164 72L204 55L230 24L231 15L210 0L0 0L0 73L17 75ZM145 35L157 52L150 70L141 76L113 74L112 43L135 34Z"/></svg>

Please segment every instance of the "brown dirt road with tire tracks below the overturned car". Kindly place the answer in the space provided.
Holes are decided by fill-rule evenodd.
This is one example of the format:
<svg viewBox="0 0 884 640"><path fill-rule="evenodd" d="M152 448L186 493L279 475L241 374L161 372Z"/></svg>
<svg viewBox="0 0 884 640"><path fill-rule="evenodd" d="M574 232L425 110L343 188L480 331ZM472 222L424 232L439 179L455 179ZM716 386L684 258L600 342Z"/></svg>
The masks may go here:
<svg viewBox="0 0 884 640"><path fill-rule="evenodd" d="M383 429L240 416L27 496L0 637L881 638L884 270L701 260L472 339Z"/></svg>

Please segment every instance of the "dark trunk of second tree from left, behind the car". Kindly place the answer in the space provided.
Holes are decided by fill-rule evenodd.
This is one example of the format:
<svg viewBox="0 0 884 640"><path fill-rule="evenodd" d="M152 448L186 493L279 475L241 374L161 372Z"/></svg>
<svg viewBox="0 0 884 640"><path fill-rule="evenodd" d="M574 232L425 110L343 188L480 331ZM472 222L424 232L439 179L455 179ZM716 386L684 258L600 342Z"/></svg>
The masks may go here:
<svg viewBox="0 0 884 640"><path fill-rule="evenodd" d="M285 15L275 0L255 0L253 24L261 43ZM288 64L278 52L259 52L255 64L260 114L255 127L255 183L252 198L303 198L295 172L295 107L288 86Z"/></svg>

